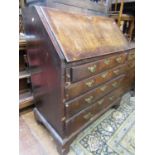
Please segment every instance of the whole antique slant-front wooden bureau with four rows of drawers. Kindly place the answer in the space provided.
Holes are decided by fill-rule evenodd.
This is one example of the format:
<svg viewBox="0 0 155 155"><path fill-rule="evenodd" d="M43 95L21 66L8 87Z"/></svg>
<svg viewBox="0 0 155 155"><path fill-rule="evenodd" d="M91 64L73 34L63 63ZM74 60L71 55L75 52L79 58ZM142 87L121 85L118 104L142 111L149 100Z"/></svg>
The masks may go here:
<svg viewBox="0 0 155 155"><path fill-rule="evenodd" d="M134 46L107 17L24 10L36 120L60 154L133 87Z"/></svg>

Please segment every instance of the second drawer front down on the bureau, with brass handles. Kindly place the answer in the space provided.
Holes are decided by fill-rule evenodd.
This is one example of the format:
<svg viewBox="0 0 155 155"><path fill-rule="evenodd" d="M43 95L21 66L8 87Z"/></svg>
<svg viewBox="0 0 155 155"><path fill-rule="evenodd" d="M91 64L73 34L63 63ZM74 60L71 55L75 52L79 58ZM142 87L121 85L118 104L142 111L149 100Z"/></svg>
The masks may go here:
<svg viewBox="0 0 155 155"><path fill-rule="evenodd" d="M83 94L94 87L105 83L106 81L125 73L127 70L127 65L123 64L118 67L109 69L105 72L102 72L100 74L97 74L89 79L71 84L65 88L65 98L66 100L70 100L74 97L79 96L80 94Z"/></svg>

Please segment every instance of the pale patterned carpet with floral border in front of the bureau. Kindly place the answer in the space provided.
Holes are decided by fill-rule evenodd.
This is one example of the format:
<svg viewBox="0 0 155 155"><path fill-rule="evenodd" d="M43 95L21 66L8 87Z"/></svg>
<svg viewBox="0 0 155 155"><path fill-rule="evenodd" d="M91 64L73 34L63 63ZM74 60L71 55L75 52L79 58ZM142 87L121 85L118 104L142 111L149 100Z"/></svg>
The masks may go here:
<svg viewBox="0 0 155 155"><path fill-rule="evenodd" d="M134 97L125 94L117 109L107 111L77 137L69 154L134 155L134 103Z"/></svg>

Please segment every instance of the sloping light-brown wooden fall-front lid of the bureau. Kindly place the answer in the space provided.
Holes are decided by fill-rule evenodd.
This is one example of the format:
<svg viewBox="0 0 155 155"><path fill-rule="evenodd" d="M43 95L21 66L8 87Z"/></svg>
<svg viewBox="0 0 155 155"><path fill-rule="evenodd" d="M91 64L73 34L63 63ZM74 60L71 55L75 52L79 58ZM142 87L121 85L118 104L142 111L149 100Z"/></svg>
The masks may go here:
<svg viewBox="0 0 155 155"><path fill-rule="evenodd" d="M102 56L128 48L117 24L108 17L41 8L67 62Z"/></svg>

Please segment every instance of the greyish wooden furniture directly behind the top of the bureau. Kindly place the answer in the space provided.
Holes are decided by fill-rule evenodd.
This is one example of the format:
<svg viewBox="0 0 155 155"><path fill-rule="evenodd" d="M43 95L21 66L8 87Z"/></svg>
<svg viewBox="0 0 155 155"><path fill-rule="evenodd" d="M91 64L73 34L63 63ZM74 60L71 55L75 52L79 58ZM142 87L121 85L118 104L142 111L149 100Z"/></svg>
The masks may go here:
<svg viewBox="0 0 155 155"><path fill-rule="evenodd" d="M90 0L26 0L26 5L47 6L74 13L106 14L106 8L103 4L94 3Z"/></svg>

